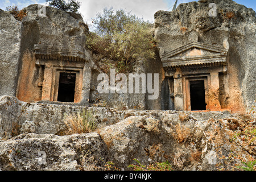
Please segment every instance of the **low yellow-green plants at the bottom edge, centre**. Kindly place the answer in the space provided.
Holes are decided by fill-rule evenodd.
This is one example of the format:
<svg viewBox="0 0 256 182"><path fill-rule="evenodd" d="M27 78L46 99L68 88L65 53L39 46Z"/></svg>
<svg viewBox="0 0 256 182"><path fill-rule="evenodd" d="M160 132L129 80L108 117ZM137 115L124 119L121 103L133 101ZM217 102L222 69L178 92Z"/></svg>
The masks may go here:
<svg viewBox="0 0 256 182"><path fill-rule="evenodd" d="M130 164L128 168L130 168L133 171L173 171L171 164L167 162L163 163L154 163L150 164L148 166L145 166L139 162L138 159L133 159L137 164Z"/></svg>

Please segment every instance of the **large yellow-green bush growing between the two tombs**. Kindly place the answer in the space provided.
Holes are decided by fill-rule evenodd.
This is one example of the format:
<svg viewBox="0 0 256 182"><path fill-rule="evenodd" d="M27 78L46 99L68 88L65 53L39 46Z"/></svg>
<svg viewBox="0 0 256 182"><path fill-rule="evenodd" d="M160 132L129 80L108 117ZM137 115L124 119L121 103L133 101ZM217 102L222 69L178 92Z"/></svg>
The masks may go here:
<svg viewBox="0 0 256 182"><path fill-rule="evenodd" d="M88 47L109 59L117 61L119 68L139 57L155 57L155 42L151 25L124 10L104 9L93 20L94 32L87 39Z"/></svg>

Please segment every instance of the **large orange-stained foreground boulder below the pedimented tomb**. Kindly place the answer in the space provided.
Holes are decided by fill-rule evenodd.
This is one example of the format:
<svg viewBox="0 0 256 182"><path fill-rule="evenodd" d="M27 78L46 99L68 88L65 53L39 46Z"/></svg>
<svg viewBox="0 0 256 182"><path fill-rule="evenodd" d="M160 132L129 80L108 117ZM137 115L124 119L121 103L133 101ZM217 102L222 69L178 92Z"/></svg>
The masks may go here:
<svg viewBox="0 0 256 182"><path fill-rule="evenodd" d="M98 132L108 146L109 160L120 168L136 158L142 164L168 160L176 170L216 170L222 156L250 156L242 145L230 142L234 132L229 127L233 121L239 127L250 119L221 112L149 111ZM255 143L252 148L255 155Z"/></svg>

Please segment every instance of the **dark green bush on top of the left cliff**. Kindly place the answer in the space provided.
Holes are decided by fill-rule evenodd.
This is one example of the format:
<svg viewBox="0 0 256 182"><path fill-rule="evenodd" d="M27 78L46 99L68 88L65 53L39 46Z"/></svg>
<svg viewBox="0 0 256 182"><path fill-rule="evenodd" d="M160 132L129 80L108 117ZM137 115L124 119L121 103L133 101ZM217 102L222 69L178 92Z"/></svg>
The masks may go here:
<svg viewBox="0 0 256 182"><path fill-rule="evenodd" d="M46 2L49 2L51 7L71 13L78 13L81 6L81 2L76 0L69 0L68 3L65 0L46 0Z"/></svg>

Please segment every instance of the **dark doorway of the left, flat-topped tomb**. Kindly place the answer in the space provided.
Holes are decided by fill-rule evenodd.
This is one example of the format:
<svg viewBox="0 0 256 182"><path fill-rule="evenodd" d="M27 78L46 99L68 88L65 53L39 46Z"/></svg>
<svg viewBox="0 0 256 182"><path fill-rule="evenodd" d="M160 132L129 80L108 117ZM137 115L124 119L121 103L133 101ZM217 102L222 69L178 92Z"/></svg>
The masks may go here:
<svg viewBox="0 0 256 182"><path fill-rule="evenodd" d="M76 73L60 73L57 101L74 102Z"/></svg>

